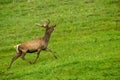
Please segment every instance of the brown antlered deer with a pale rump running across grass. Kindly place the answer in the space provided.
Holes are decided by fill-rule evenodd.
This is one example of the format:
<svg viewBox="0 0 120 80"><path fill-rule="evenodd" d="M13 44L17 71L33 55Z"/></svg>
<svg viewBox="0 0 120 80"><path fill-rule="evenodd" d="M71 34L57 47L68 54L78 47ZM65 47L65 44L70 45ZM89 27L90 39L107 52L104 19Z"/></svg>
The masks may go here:
<svg viewBox="0 0 120 80"><path fill-rule="evenodd" d="M12 58L7 69L10 69L13 62L19 57L21 57L26 62L32 64L31 61L29 61L25 58L26 53L37 52L37 57L33 63L35 63L37 61L37 59L39 58L41 50L49 51L52 53L52 55L55 58L57 58L57 56L55 55L55 52L53 52L52 50L47 48L51 33L54 31L54 29L56 27L56 25L49 26L49 24L50 24L50 20L47 20L44 24L36 23L36 26L40 26L40 27L43 27L46 29L44 36L37 38L37 39L34 39L32 41L29 41L29 42L18 44L16 46L16 55Z"/></svg>

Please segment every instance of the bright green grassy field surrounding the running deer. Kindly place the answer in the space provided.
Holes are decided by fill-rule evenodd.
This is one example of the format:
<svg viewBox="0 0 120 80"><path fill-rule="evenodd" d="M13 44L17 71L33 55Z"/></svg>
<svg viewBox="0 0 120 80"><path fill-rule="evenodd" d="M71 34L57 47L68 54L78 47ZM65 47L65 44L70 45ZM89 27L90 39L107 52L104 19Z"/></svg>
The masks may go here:
<svg viewBox="0 0 120 80"><path fill-rule="evenodd" d="M0 80L120 80L119 0L0 0ZM36 64L17 59L14 45L43 36L56 24L49 52ZM27 54L33 61L36 54Z"/></svg>

